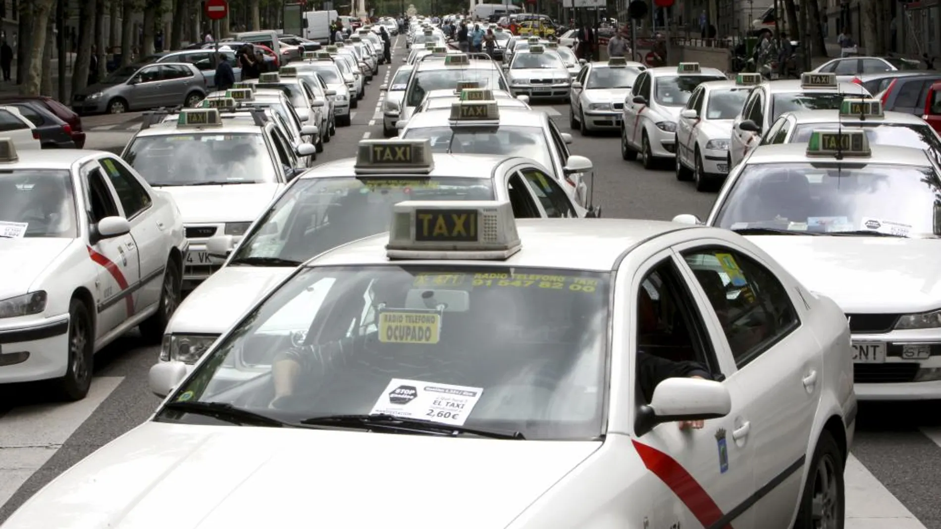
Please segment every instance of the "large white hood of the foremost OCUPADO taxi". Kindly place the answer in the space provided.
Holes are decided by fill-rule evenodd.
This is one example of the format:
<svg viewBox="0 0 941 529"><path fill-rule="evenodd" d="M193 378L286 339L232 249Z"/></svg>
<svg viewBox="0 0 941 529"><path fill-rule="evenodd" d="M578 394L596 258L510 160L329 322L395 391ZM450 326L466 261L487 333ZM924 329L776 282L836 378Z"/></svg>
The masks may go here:
<svg viewBox="0 0 941 529"><path fill-rule="evenodd" d="M600 445L148 422L4 529L504 527Z"/></svg>

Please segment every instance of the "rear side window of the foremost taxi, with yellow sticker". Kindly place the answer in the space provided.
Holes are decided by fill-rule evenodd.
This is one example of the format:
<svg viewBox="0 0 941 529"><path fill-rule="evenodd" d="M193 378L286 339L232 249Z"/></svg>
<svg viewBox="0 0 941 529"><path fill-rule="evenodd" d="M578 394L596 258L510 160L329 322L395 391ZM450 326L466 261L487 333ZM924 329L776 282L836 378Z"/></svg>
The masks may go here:
<svg viewBox="0 0 941 529"><path fill-rule="evenodd" d="M722 323L739 368L800 325L787 290L752 259L719 248L683 257Z"/></svg>

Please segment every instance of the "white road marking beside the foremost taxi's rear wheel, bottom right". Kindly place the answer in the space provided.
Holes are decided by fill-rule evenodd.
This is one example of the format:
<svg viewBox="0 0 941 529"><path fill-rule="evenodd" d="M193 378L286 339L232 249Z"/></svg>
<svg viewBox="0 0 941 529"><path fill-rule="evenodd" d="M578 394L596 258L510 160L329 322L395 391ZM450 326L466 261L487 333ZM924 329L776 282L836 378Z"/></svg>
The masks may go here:
<svg viewBox="0 0 941 529"><path fill-rule="evenodd" d="M846 483L845 529L926 529L852 454L846 461L843 480Z"/></svg>

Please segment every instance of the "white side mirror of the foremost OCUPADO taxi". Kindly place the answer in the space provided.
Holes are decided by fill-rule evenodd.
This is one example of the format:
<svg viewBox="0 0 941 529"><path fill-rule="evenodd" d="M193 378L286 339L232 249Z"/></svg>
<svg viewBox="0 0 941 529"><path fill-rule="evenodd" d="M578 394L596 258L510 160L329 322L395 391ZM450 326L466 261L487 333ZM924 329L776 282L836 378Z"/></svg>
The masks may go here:
<svg viewBox="0 0 941 529"><path fill-rule="evenodd" d="M650 404L642 406L634 425L638 436L661 423L725 417L732 411L732 397L722 382L673 378L657 384Z"/></svg>

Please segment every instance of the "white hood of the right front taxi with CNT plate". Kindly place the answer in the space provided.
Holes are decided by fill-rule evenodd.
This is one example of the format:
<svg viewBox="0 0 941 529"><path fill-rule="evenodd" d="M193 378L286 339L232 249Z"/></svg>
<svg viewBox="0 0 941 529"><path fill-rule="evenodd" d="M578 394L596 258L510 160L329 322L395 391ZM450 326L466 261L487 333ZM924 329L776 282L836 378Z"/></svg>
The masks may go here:
<svg viewBox="0 0 941 529"><path fill-rule="evenodd" d="M748 236L785 270L843 312L941 308L941 244L933 239Z"/></svg>

